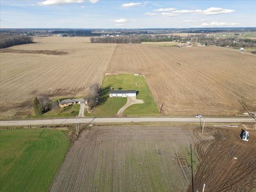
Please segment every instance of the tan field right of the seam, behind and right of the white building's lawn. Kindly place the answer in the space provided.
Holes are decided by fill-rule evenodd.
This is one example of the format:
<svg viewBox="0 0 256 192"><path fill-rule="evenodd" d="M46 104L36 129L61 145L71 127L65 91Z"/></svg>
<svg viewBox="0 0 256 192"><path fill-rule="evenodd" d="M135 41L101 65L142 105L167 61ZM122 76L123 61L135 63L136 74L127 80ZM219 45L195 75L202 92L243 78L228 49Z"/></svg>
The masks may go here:
<svg viewBox="0 0 256 192"><path fill-rule="evenodd" d="M256 110L256 58L221 47L118 44L110 73L143 73L164 115L231 116Z"/></svg>

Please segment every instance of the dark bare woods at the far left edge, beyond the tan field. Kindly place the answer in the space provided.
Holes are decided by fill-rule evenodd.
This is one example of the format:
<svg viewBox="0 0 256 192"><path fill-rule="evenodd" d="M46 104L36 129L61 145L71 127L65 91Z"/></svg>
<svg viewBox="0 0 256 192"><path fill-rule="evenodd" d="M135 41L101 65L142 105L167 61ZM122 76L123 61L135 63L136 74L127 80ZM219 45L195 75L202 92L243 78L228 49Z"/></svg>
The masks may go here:
<svg viewBox="0 0 256 192"><path fill-rule="evenodd" d="M0 34L0 36L0 49L14 45L33 43L33 38L25 35Z"/></svg>

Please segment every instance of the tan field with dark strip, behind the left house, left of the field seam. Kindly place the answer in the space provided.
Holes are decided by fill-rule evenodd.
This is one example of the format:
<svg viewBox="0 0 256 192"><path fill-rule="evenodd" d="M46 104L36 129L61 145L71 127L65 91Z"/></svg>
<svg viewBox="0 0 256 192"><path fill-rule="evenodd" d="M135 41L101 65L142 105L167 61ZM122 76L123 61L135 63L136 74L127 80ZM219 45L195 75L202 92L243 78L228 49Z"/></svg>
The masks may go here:
<svg viewBox="0 0 256 192"><path fill-rule="evenodd" d="M36 94L87 93L91 83L102 83L116 46L91 44L87 37L34 40L38 43L1 50L1 118L30 114Z"/></svg>

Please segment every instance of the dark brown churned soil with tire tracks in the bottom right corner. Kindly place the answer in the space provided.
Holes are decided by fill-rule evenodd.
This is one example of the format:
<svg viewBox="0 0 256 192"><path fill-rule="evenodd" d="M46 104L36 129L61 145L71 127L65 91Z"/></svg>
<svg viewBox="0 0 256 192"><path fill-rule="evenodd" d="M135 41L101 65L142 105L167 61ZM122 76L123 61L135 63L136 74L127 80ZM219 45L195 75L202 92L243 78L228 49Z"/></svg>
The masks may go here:
<svg viewBox="0 0 256 192"><path fill-rule="evenodd" d="M250 130L249 130L250 131ZM215 140L196 145L201 163L195 179L195 191L252 191L256 189L256 134L250 131L248 142L239 138L241 130L210 130ZM205 145L210 145L205 148ZM237 159L234 159L236 157ZM191 190L191 186L188 191Z"/></svg>

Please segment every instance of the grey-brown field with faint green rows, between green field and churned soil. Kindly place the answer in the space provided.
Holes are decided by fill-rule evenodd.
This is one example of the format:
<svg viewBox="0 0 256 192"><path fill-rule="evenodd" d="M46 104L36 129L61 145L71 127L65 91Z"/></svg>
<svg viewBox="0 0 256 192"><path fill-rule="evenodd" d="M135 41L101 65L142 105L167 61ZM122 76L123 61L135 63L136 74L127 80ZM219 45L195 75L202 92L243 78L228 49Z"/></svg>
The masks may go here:
<svg viewBox="0 0 256 192"><path fill-rule="evenodd" d="M193 127L93 127L70 148L50 191L185 191L190 143L202 138Z"/></svg>

